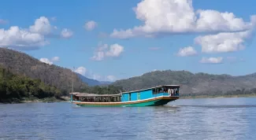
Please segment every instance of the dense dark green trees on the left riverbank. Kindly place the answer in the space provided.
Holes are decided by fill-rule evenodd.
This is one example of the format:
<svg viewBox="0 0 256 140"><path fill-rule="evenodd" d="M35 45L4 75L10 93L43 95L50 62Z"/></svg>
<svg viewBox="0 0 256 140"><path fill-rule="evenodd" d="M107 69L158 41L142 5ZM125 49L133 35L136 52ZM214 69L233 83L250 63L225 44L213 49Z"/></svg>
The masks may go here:
<svg viewBox="0 0 256 140"><path fill-rule="evenodd" d="M40 79L17 76L0 68L0 102L21 102L43 98L61 100L61 90L50 87Z"/></svg>

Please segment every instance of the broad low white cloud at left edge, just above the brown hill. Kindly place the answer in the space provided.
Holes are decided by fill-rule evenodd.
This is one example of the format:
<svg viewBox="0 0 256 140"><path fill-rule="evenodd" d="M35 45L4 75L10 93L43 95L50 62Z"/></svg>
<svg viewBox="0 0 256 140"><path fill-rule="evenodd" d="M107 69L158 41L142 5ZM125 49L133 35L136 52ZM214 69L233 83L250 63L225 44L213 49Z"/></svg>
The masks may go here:
<svg viewBox="0 0 256 140"><path fill-rule="evenodd" d="M0 47L12 47L23 50L34 50L39 46L45 46L49 42L43 35L33 33L17 26L12 26L8 30L0 29Z"/></svg>

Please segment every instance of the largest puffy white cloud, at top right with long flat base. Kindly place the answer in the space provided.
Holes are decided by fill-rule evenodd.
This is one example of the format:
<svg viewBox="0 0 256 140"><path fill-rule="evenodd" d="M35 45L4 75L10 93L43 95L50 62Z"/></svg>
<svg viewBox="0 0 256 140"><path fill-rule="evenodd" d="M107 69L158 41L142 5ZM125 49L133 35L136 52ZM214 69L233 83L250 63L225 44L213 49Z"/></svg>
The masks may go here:
<svg viewBox="0 0 256 140"><path fill-rule="evenodd" d="M255 25L256 16L245 22L233 13L216 10L195 10L191 0L143 0L134 8L143 25L127 30L114 29L113 38L182 34L187 32L245 31Z"/></svg>

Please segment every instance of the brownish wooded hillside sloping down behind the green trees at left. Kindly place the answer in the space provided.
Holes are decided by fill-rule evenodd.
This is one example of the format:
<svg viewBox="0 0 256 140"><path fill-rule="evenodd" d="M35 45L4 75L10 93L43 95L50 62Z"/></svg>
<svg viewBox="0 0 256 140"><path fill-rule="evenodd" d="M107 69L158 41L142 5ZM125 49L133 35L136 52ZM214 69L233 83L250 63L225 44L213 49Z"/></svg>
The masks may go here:
<svg viewBox="0 0 256 140"><path fill-rule="evenodd" d="M0 47L0 67L18 76L28 76L32 79L40 79L47 85L57 87L61 93L68 93L72 87L72 76L74 79L74 90L87 87L86 83L71 72L68 68L61 68L54 64L45 64L28 54L20 53Z"/></svg>

